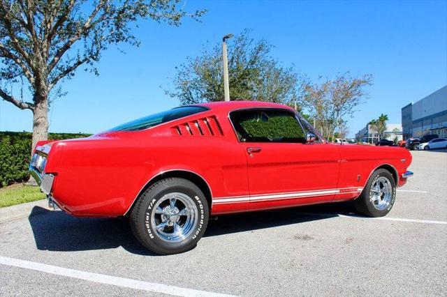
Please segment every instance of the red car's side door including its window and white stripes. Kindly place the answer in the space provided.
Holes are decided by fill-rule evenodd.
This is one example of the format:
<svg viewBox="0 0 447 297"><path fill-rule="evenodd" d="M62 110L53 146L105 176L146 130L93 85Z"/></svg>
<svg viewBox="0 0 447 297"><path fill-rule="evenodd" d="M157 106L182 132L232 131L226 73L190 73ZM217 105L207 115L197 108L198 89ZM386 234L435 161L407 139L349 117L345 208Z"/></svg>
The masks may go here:
<svg viewBox="0 0 447 297"><path fill-rule="evenodd" d="M302 204L331 201L339 174L339 146L316 139L288 109L230 113L247 152L250 202Z"/></svg>

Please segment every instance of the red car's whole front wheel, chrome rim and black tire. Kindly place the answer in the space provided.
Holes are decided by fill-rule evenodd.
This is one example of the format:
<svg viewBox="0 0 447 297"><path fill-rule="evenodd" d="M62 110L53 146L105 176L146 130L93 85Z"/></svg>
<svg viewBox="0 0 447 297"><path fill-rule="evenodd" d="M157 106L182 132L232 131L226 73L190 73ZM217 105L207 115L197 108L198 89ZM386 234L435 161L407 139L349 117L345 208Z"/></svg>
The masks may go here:
<svg viewBox="0 0 447 297"><path fill-rule="evenodd" d="M369 178L354 205L358 212L370 217L382 217L390 212L396 198L396 183L386 169L377 169Z"/></svg>

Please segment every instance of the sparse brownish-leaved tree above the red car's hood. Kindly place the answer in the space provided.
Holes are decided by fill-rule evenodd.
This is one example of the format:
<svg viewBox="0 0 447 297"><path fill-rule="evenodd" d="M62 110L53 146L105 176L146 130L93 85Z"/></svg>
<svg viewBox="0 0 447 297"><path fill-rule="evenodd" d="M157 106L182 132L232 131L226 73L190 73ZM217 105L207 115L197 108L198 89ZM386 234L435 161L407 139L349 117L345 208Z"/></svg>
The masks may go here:
<svg viewBox="0 0 447 297"><path fill-rule="evenodd" d="M303 104L311 118L315 119L316 128L333 140L335 130L342 128L347 119L353 117L358 105L368 98L365 87L371 84L371 75L353 77L349 73L307 83Z"/></svg>

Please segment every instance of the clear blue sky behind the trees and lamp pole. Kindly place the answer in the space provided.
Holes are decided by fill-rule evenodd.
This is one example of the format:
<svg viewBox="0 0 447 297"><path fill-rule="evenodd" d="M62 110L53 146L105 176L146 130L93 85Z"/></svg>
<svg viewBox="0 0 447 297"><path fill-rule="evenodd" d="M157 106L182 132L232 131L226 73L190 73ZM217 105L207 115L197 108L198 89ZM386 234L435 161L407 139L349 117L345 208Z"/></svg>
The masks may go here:
<svg viewBox="0 0 447 297"><path fill-rule="evenodd" d="M274 45L272 56L312 79L371 73L369 99L350 119L350 134L382 112L400 123L400 109L447 84L447 1L187 1L207 8L203 22L179 27L140 22L140 47L110 47L100 76L79 70L62 84L50 132L100 132L179 102L164 94L175 66L206 41L249 28ZM20 93L14 89L15 95ZM32 114L0 101L0 130L32 130Z"/></svg>

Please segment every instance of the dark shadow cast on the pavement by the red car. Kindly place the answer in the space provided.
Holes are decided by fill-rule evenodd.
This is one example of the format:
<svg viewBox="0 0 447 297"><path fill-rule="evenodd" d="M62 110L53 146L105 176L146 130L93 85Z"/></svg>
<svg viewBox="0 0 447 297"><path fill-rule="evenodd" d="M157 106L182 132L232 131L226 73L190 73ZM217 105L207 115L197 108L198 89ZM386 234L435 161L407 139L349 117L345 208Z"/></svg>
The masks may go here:
<svg viewBox="0 0 447 297"><path fill-rule="evenodd" d="M205 237L232 234L298 224L336 217L337 213L350 213L351 204L321 204L272 211L256 211L222 215L210 220ZM38 250L74 252L103 250L122 246L133 254L152 255L133 237L129 223L119 218L75 218L63 211L49 211L35 206L29 223Z"/></svg>

